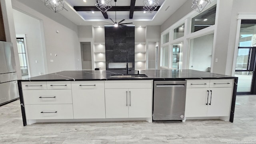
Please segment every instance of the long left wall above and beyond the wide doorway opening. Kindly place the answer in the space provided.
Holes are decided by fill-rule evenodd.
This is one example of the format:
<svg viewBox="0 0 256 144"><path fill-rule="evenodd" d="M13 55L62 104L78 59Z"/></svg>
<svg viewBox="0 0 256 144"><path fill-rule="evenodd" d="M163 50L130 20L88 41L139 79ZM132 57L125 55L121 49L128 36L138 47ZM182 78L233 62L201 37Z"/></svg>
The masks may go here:
<svg viewBox="0 0 256 144"><path fill-rule="evenodd" d="M52 12L40 0L12 0L12 6L42 21L46 55L44 60L46 59L48 73L81 70L80 44L76 24L61 14Z"/></svg>

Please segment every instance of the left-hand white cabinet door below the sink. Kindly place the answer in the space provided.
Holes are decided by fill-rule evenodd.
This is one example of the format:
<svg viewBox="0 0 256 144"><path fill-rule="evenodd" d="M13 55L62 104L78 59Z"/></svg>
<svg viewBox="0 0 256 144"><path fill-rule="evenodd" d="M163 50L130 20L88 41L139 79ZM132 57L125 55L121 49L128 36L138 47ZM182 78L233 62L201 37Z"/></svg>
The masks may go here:
<svg viewBox="0 0 256 144"><path fill-rule="evenodd" d="M106 118L128 118L128 89L105 89Z"/></svg>

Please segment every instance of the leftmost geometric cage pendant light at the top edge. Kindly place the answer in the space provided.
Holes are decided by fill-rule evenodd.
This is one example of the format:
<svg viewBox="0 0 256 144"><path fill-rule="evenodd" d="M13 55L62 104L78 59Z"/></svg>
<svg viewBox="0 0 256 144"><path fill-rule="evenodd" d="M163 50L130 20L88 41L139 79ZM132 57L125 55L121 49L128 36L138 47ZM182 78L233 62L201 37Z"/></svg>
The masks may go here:
<svg viewBox="0 0 256 144"><path fill-rule="evenodd" d="M64 8L64 0L45 0L44 4L54 12L59 12Z"/></svg>

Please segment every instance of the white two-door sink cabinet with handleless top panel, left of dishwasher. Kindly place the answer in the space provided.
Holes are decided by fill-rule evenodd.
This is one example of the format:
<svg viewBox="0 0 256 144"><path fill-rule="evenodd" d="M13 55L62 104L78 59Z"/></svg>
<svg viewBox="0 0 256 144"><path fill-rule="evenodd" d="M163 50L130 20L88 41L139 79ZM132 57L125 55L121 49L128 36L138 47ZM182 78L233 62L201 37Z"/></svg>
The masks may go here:
<svg viewBox="0 0 256 144"><path fill-rule="evenodd" d="M105 82L106 118L150 118L152 80Z"/></svg>

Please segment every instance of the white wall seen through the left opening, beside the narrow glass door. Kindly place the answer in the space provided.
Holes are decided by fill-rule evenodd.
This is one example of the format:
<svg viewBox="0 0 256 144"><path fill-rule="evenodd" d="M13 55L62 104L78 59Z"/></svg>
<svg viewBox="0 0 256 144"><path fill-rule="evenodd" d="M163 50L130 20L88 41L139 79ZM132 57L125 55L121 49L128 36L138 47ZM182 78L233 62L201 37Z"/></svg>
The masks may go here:
<svg viewBox="0 0 256 144"><path fill-rule="evenodd" d="M40 21L17 10L13 16L16 34L26 34L30 76L45 74Z"/></svg>

